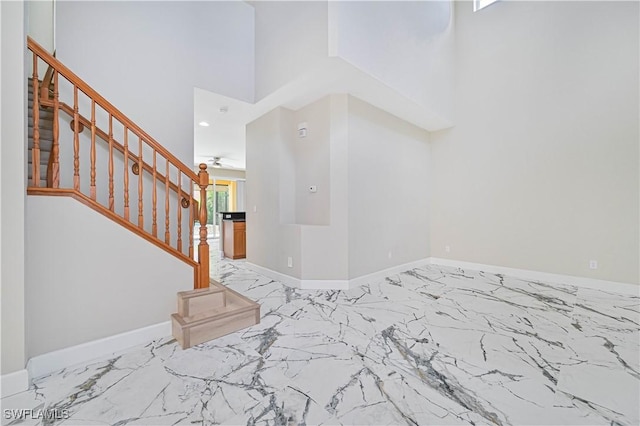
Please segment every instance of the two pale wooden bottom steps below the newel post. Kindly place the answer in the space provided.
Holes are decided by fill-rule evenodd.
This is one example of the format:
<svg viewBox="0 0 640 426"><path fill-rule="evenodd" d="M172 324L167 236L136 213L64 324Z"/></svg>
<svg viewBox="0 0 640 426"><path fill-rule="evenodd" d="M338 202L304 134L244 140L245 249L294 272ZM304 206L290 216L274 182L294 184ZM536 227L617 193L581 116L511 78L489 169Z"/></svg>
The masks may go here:
<svg viewBox="0 0 640 426"><path fill-rule="evenodd" d="M260 305L211 280L207 289L178 293L171 315L173 337L183 349L260 323Z"/></svg>

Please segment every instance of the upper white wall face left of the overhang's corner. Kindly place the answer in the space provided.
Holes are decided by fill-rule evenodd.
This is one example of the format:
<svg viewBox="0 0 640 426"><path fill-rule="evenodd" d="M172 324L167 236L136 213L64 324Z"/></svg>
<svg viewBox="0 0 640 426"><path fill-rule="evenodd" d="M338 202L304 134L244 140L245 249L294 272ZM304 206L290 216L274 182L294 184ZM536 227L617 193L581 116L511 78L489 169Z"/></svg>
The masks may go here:
<svg viewBox="0 0 640 426"><path fill-rule="evenodd" d="M259 101L326 60L327 2L253 2L255 99Z"/></svg>

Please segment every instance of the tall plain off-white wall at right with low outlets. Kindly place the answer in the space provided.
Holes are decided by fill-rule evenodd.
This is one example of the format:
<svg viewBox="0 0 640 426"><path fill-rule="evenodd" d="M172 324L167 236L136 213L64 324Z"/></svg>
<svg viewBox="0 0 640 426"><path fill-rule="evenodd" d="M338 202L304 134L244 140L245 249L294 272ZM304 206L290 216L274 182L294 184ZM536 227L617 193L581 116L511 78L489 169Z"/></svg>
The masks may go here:
<svg viewBox="0 0 640 426"><path fill-rule="evenodd" d="M639 283L638 3L455 8L432 255Z"/></svg>

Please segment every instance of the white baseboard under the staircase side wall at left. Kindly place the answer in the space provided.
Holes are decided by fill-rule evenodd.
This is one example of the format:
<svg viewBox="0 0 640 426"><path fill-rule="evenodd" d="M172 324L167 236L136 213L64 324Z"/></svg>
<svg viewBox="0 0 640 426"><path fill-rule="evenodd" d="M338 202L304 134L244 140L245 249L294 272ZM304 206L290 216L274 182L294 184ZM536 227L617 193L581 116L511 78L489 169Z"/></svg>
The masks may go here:
<svg viewBox="0 0 640 426"><path fill-rule="evenodd" d="M34 379L168 336L171 336L171 321L35 356L27 363L27 370Z"/></svg>

